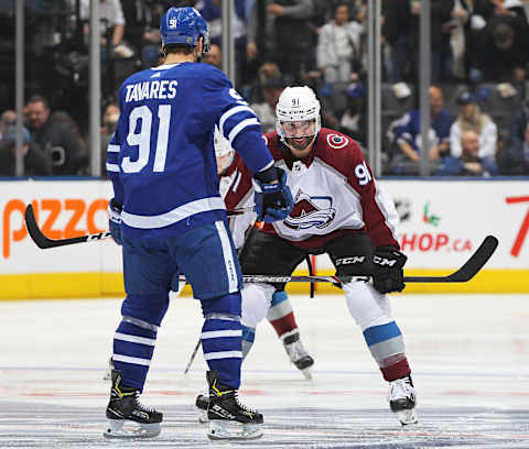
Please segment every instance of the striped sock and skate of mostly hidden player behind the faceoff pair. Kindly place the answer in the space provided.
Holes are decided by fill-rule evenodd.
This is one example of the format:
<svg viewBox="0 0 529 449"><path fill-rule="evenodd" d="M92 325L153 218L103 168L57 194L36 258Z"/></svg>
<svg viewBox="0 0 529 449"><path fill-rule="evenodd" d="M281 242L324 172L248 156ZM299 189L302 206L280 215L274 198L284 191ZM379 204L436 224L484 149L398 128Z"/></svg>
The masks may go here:
<svg viewBox="0 0 529 449"><path fill-rule="evenodd" d="M314 364L314 359L309 355L301 341L294 310L287 292L284 292L284 286L273 293L267 319L283 343L290 361L306 379L312 379L311 368Z"/></svg>

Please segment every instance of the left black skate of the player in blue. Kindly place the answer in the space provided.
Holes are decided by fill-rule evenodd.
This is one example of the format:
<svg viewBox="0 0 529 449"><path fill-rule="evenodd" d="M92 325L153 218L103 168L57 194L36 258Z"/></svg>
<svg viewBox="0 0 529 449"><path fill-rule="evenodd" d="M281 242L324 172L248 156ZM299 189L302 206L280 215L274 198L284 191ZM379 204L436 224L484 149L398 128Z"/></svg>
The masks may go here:
<svg viewBox="0 0 529 449"><path fill-rule="evenodd" d="M163 415L153 408L145 407L139 401L140 391L125 386L121 374L112 370L110 402L107 406L108 427L106 438L152 438L160 435ZM133 427L123 427L132 424Z"/></svg>

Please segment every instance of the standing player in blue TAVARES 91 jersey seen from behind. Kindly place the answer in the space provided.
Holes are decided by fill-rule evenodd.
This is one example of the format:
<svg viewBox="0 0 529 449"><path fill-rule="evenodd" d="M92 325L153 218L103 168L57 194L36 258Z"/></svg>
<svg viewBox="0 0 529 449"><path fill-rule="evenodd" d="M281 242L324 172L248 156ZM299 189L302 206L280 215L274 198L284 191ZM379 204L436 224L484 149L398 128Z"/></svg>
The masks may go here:
<svg viewBox="0 0 529 449"><path fill-rule="evenodd" d="M127 297L114 339L106 437L153 437L162 414L143 406L156 331L173 275L183 273L205 318L212 439L262 435L262 415L237 397L241 362L241 274L218 193L215 125L255 173L260 219L284 219L292 196L261 138L260 123L228 78L197 64L208 50L207 25L193 8L162 18L165 63L129 77L119 90L120 118L107 171L114 185L110 231L122 244ZM126 421L139 425L136 431Z"/></svg>

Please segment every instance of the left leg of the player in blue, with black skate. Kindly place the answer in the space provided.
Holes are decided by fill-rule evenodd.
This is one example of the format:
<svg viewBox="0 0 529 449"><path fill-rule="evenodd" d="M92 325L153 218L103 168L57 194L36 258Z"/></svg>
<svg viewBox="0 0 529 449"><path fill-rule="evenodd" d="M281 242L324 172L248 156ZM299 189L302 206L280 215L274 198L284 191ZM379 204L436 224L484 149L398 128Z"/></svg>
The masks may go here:
<svg viewBox="0 0 529 449"><path fill-rule="evenodd" d="M123 237L123 278L127 297L114 337L107 438L154 437L162 414L139 401L151 363L158 329L169 305L171 263L163 243L139 243ZM128 430L125 424L136 423Z"/></svg>

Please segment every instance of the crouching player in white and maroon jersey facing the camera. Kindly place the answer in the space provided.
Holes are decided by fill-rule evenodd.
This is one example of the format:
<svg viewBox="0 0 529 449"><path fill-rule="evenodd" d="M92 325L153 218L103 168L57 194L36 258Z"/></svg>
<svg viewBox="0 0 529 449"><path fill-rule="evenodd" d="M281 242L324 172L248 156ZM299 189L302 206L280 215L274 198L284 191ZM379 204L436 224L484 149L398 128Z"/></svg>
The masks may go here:
<svg viewBox="0 0 529 449"><path fill-rule="evenodd" d="M396 238L393 202L374 179L358 144L321 128L320 102L309 87L283 90L277 131L264 138L276 166L288 174L294 207L285 219L253 229L239 252L242 273L288 276L306 254L327 253L338 276L357 280L343 283L345 299L389 383L390 409L402 425L417 423L411 370L386 295L404 288L407 258ZM225 197L228 209L252 200L251 172L244 161L235 171ZM366 282L366 276L373 281ZM245 285L244 335L267 316L276 287Z"/></svg>

